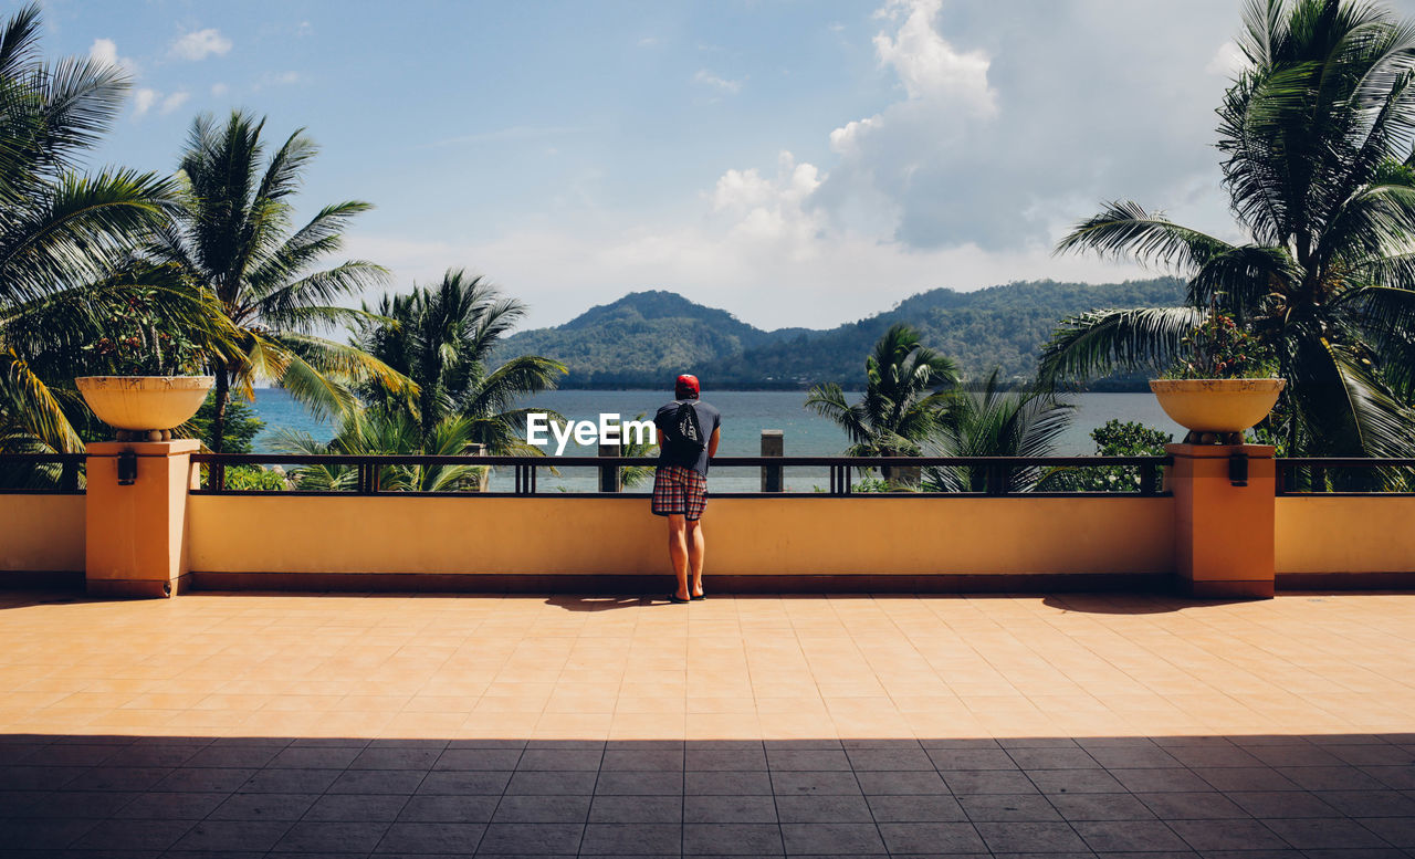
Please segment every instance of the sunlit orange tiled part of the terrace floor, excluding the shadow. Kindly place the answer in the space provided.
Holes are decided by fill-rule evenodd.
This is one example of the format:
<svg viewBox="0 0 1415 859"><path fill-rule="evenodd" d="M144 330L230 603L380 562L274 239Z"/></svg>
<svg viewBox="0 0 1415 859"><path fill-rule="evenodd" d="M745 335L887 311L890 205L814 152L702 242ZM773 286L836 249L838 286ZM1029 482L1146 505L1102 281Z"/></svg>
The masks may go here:
<svg viewBox="0 0 1415 859"><path fill-rule="evenodd" d="M0 594L0 734L1388 734L1415 596Z"/></svg>

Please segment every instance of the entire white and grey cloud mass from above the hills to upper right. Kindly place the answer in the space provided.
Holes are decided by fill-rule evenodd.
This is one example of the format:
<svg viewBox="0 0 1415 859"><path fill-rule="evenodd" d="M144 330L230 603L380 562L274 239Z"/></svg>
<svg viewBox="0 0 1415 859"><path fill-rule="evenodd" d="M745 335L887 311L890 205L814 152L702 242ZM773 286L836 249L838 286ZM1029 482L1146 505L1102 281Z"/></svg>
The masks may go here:
<svg viewBox="0 0 1415 859"><path fill-rule="evenodd" d="M475 266L529 301L531 325L657 287L758 325L826 327L940 286L1143 276L1051 256L1101 200L1223 234L1211 143L1224 81L1206 64L1238 25L1231 0L1027 8L891 0L873 48L899 96L792 143L828 142L824 157L723 164L676 217L590 201L478 239L355 234L350 252L400 284Z"/></svg>

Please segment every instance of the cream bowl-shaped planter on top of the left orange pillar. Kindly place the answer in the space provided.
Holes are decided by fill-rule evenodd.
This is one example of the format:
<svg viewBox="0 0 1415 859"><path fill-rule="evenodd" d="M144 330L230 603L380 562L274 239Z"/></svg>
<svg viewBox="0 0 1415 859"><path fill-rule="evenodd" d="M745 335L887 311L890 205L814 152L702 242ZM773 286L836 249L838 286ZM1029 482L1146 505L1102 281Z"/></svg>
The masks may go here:
<svg viewBox="0 0 1415 859"><path fill-rule="evenodd" d="M81 376L74 379L93 413L119 440L158 442L191 420L215 376ZM123 436L127 436L125 439Z"/></svg>

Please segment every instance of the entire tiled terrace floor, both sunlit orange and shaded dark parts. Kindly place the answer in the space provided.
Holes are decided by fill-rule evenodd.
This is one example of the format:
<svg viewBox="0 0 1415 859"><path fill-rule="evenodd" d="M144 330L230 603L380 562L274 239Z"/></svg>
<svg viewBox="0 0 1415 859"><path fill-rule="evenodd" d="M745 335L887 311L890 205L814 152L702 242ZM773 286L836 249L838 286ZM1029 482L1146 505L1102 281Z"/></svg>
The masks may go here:
<svg viewBox="0 0 1415 859"><path fill-rule="evenodd" d="M1415 594L0 596L0 856L1415 855Z"/></svg>

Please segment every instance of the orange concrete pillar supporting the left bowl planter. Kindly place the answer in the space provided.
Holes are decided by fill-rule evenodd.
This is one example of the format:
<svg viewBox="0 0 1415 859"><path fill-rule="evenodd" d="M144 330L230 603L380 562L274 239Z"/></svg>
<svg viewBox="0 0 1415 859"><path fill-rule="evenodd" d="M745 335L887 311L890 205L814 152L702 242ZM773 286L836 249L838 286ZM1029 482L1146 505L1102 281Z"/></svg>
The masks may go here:
<svg viewBox="0 0 1415 859"><path fill-rule="evenodd" d="M168 597L187 575L187 492L201 443L96 442L88 446L85 579L88 593ZM120 484L122 454L136 466Z"/></svg>

